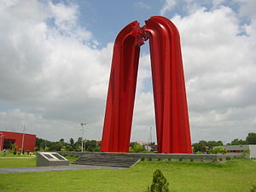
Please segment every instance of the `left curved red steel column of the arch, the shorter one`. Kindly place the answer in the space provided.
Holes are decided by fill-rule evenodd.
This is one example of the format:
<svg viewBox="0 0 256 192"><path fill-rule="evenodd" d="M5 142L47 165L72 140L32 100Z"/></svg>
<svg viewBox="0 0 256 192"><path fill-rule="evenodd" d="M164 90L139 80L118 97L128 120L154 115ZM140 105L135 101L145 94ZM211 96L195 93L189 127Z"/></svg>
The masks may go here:
<svg viewBox="0 0 256 192"><path fill-rule="evenodd" d="M137 21L119 32L114 46L108 99L102 134L102 151L128 152L131 137L140 45Z"/></svg>

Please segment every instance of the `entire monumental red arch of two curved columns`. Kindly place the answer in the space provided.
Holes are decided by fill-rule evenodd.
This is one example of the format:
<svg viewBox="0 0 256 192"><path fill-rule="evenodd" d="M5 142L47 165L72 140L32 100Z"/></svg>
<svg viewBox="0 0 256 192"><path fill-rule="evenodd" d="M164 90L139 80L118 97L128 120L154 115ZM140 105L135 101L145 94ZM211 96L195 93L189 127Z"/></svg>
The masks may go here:
<svg viewBox="0 0 256 192"><path fill-rule="evenodd" d="M159 153L191 154L189 115L177 27L161 16L119 32L102 133L103 152L129 152L140 46L149 39Z"/></svg>

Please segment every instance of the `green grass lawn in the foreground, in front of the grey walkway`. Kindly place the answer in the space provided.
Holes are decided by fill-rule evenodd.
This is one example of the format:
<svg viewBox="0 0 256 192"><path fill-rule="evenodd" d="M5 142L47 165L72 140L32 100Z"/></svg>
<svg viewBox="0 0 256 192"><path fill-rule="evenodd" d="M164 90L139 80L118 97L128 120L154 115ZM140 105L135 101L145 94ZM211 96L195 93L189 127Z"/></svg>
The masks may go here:
<svg viewBox="0 0 256 192"><path fill-rule="evenodd" d="M2 164L2 160L0 160ZM175 192L249 192L256 181L254 160L203 162L142 161L129 169L0 174L0 191L145 191L160 169Z"/></svg>

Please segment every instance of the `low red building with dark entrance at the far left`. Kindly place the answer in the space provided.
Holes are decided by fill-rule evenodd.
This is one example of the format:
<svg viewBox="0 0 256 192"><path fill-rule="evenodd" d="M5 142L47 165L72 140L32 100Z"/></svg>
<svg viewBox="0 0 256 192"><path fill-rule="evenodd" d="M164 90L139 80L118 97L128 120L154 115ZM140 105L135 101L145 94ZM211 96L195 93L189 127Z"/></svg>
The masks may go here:
<svg viewBox="0 0 256 192"><path fill-rule="evenodd" d="M24 151L35 151L36 147L36 135L20 133L20 132L10 132L10 131L0 131L0 151L3 149L8 150L11 148L11 144L15 143L18 151L22 148Z"/></svg>

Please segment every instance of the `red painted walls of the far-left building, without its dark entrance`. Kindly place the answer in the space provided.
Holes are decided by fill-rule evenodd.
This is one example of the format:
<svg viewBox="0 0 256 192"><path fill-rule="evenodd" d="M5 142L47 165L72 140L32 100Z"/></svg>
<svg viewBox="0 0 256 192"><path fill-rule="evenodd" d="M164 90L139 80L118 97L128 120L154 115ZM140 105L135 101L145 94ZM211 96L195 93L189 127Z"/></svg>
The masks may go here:
<svg viewBox="0 0 256 192"><path fill-rule="evenodd" d="M2 133L2 134L1 134ZM1 136L2 139L1 139ZM18 150L20 151L20 148L22 146L22 137L23 133L19 132L10 132L10 131L0 131L0 150L3 150L3 144L5 139L14 139L15 143L17 145ZM23 143L24 151L35 151L36 147L36 135L32 134L24 134L24 143ZM8 149L8 148L6 148Z"/></svg>

